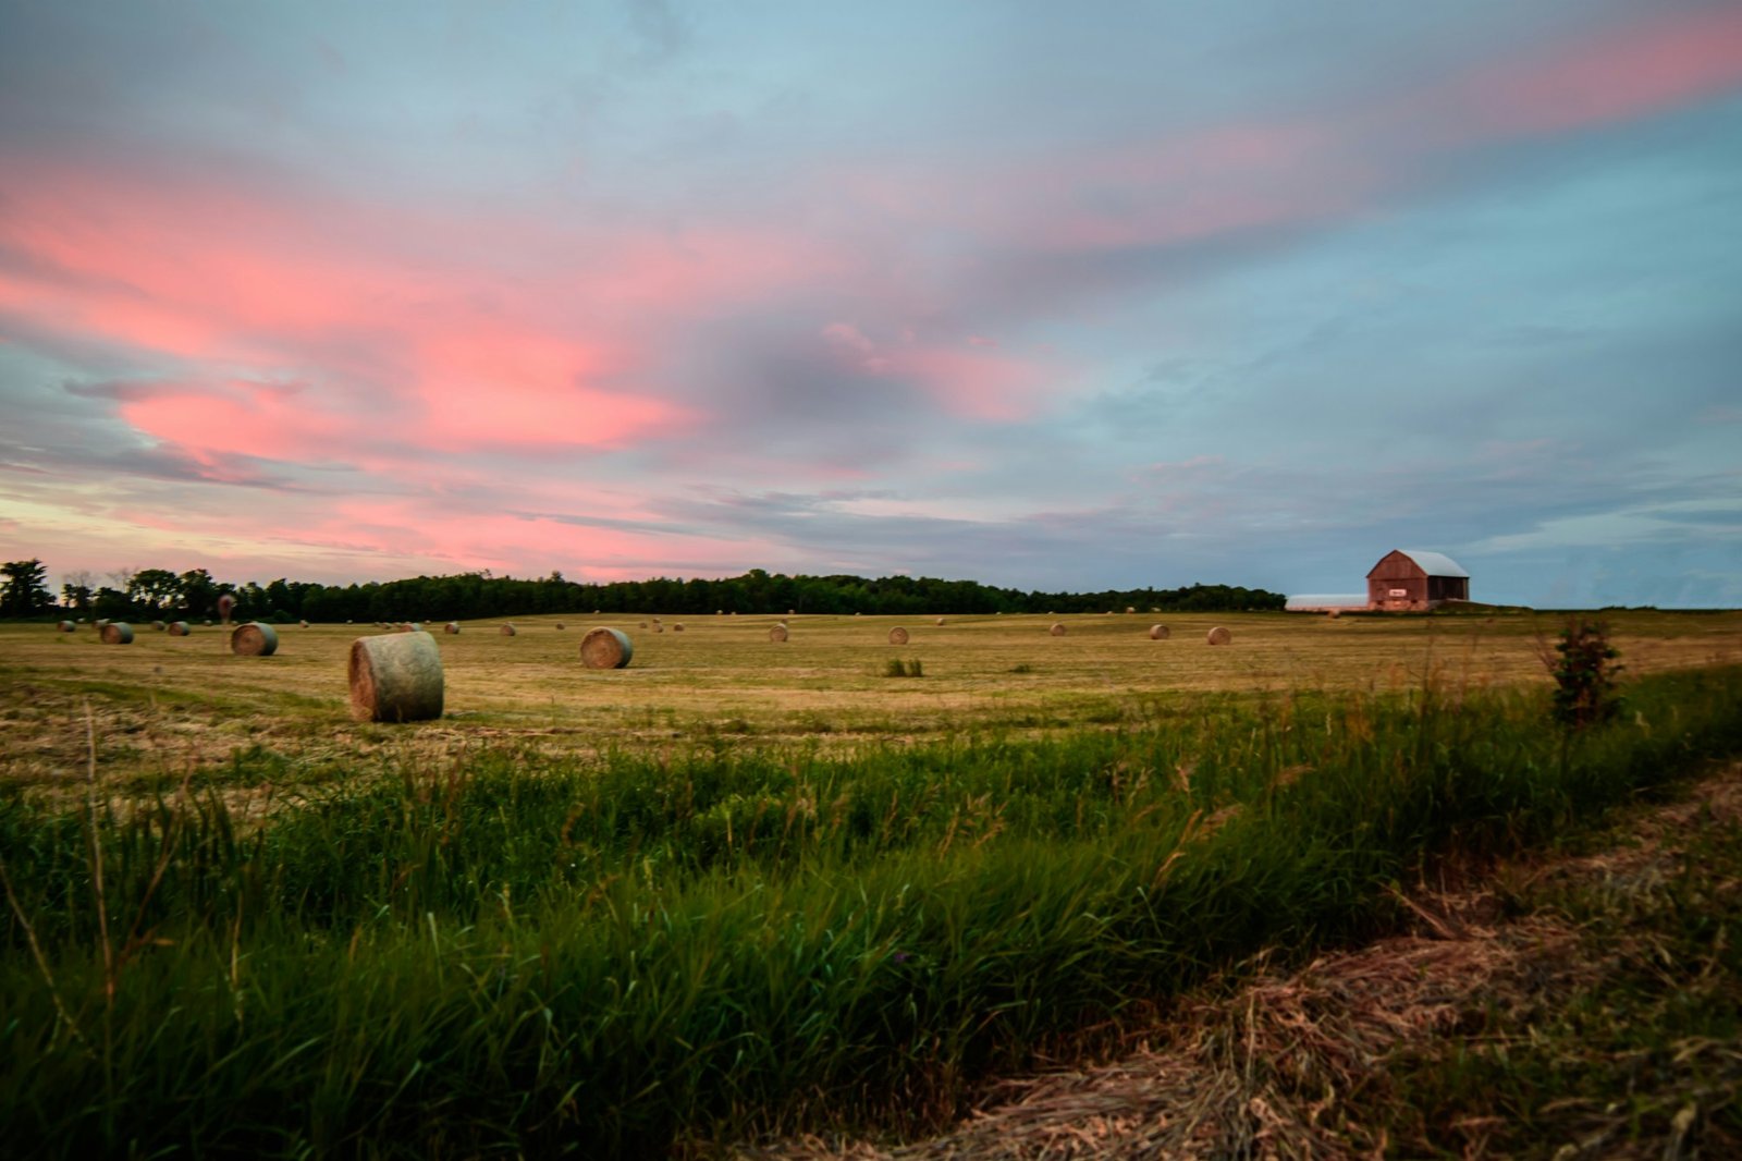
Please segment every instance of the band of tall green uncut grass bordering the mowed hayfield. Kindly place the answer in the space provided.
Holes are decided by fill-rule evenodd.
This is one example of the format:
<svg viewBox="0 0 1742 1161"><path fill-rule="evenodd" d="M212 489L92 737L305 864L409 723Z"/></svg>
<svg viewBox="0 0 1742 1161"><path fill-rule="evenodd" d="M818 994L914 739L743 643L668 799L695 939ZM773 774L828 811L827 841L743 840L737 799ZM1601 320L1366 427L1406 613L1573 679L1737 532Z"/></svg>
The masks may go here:
<svg viewBox="0 0 1742 1161"><path fill-rule="evenodd" d="M923 1124L1435 852L1742 750L1742 671L1547 699L1200 699L1057 741L390 762L0 800L0 1119L44 1156L577 1151ZM94 788L99 790L99 788ZM99 873L101 872L101 873Z"/></svg>

